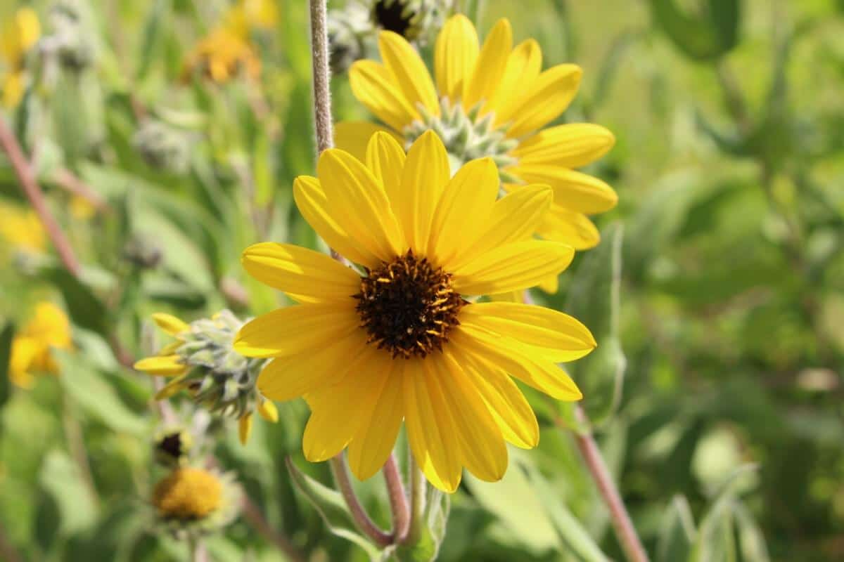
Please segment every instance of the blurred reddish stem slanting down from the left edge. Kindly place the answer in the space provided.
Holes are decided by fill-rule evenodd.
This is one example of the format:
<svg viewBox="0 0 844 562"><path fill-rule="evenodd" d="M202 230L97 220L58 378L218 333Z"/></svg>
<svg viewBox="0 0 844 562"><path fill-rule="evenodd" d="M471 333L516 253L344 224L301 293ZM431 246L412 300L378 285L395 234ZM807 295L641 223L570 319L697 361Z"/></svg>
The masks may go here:
<svg viewBox="0 0 844 562"><path fill-rule="evenodd" d="M78 277L79 262L76 259L76 254L73 254L73 248L71 248L68 238L65 238L62 227L59 226L46 206L41 187L35 181L35 170L32 169L29 160L24 156L24 151L21 149L18 139L15 138L14 133L2 118L0 118L0 146L3 147L3 152L8 155L14 174L24 190L24 195L30 201L32 208L35 209L41 224L44 225L44 230L50 237L53 247L56 248L59 259L62 260L62 264L74 277Z"/></svg>

